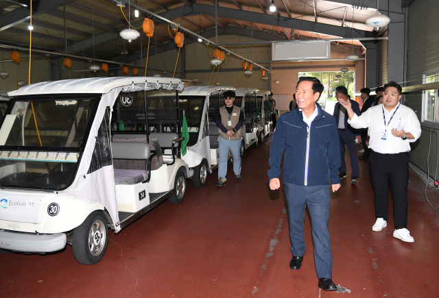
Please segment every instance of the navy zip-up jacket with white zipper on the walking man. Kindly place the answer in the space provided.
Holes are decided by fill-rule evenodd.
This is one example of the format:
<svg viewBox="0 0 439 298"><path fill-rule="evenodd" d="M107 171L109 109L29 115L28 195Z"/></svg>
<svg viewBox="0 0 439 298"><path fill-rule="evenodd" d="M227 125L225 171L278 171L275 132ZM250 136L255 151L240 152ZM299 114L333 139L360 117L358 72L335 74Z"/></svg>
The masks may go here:
<svg viewBox="0 0 439 298"><path fill-rule="evenodd" d="M279 118L270 146L268 179L281 175L281 159L285 151L284 182L311 186L329 184L331 178L332 184L340 183L338 169L341 158L337 124L335 118L324 112L318 104L317 109L318 115L311 122L311 127L303 121L302 111L299 109L287 112Z"/></svg>

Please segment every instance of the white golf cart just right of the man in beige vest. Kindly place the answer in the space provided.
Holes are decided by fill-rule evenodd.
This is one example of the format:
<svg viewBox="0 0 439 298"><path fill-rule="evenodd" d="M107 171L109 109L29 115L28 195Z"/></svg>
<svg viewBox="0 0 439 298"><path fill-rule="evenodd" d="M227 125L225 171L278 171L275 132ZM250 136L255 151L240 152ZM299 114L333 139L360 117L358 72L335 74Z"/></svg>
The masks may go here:
<svg viewBox="0 0 439 298"><path fill-rule="evenodd" d="M241 112L244 113L244 129L246 133L244 136L244 149L248 149L254 145L257 147L261 134L263 134L263 127L258 123L257 118L257 92L254 88L237 88L235 96L235 105L239 106L241 102Z"/></svg>

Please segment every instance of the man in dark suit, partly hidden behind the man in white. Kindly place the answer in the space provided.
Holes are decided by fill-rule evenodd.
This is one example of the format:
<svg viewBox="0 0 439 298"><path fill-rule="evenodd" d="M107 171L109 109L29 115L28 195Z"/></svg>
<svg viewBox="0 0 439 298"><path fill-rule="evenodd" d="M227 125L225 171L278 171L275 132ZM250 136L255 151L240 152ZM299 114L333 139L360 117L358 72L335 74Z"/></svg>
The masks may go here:
<svg viewBox="0 0 439 298"><path fill-rule="evenodd" d="M337 98L342 98L345 101L351 101L352 109L357 114L357 116L361 115L359 111L359 104L352 99L348 99L348 90L345 86L338 86L335 88L335 95ZM340 112L340 110L342 112ZM348 113L346 109L340 105L340 103L335 103L334 114L335 121L337 121L338 127L338 135L340 137L340 153L342 154L342 166L340 166L340 179L346 177L346 162L344 161L344 155L346 148L348 148L349 156L351 156L351 183L356 184L358 182L359 177L359 167L357 160L357 145L355 145L355 140L359 142L361 140L361 129L355 129L351 125L348 124Z"/></svg>

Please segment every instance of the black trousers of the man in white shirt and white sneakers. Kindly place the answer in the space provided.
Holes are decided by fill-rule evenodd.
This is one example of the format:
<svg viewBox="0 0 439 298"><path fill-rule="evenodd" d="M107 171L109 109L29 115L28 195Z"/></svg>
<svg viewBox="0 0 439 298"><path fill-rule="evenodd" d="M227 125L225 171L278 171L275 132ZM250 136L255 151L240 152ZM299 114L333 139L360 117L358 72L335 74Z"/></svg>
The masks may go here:
<svg viewBox="0 0 439 298"><path fill-rule="evenodd" d="M389 183L392 186L393 219L395 229L407 227L407 186L409 183L409 155L407 152L381 154L370 150L370 174L375 190L375 217L387 221Z"/></svg>

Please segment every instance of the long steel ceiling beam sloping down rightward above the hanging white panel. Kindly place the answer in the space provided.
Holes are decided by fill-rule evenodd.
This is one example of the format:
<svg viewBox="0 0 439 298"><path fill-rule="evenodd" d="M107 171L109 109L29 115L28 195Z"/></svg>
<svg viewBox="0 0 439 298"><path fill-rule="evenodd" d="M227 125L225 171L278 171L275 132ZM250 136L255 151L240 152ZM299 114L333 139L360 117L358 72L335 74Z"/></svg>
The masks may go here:
<svg viewBox="0 0 439 298"><path fill-rule="evenodd" d="M186 14L204 14L215 16L215 6L193 3L192 11L189 10ZM331 36L344 37L348 33L346 27L328 25L324 23L316 23L311 21L302 21L297 18L288 18L279 16L279 20L276 20L270 14L261 14L260 12L251 12L245 10L235 10L233 8L218 8L218 16L224 18L233 18L239 21L248 21L253 23L259 23L263 25L272 25L278 27L285 27L289 29L296 29L301 27L302 30L308 32L314 32L316 34L328 34ZM361 37L374 37L375 33L364 30L355 29L354 38Z"/></svg>

